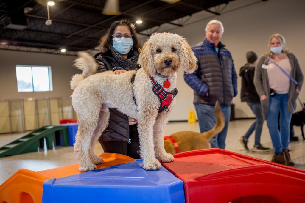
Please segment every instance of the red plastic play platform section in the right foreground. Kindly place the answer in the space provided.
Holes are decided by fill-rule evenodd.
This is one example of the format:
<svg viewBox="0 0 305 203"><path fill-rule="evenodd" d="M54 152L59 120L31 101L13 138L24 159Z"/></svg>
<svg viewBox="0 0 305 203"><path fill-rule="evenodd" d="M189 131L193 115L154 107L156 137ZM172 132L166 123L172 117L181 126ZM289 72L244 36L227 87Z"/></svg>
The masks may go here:
<svg viewBox="0 0 305 203"><path fill-rule="evenodd" d="M304 170L222 149L174 157L162 165L183 181L186 202L305 202Z"/></svg>

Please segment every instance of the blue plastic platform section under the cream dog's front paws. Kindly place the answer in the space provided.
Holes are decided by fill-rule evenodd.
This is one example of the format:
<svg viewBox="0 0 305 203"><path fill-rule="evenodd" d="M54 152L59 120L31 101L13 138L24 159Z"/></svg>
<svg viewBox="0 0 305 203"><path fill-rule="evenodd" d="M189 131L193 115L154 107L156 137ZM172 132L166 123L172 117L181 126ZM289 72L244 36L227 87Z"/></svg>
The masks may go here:
<svg viewBox="0 0 305 203"><path fill-rule="evenodd" d="M185 202L183 183L163 166L142 168L142 159L88 171L43 184L43 203L180 203Z"/></svg>

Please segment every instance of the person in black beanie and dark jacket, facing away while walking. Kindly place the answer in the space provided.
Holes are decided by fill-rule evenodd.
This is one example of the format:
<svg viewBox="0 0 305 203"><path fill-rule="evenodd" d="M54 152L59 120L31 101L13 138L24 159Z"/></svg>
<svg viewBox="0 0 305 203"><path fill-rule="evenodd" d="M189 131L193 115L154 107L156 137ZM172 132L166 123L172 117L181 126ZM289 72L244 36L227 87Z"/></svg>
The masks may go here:
<svg viewBox="0 0 305 203"><path fill-rule="evenodd" d="M250 135L255 130L255 142L252 149L253 152L267 152L270 148L263 147L260 144L260 136L263 129L264 117L262 114L262 107L260 105L260 97L257 94L257 91L254 87L253 78L255 65L257 62L257 55L253 51L248 51L246 54L247 63L240 69L239 76L242 77L242 90L241 90L241 100L242 102L247 102L248 106L251 108L253 113L256 116L256 120L250 126L246 134L242 137L239 137L239 141L242 146L249 150L248 140Z"/></svg>

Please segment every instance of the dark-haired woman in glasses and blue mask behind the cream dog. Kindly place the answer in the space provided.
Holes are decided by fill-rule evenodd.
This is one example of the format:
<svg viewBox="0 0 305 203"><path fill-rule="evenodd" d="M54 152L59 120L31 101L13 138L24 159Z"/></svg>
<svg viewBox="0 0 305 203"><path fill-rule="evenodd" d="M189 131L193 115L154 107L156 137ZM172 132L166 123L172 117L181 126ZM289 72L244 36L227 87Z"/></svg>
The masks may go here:
<svg viewBox="0 0 305 203"><path fill-rule="evenodd" d="M139 51L142 44L135 32L135 26L127 19L113 22L100 40L101 52L94 57L98 72L113 71L122 74L137 70ZM140 150L135 120L117 109L110 109L109 124L99 138L104 152L119 153L139 159Z"/></svg>

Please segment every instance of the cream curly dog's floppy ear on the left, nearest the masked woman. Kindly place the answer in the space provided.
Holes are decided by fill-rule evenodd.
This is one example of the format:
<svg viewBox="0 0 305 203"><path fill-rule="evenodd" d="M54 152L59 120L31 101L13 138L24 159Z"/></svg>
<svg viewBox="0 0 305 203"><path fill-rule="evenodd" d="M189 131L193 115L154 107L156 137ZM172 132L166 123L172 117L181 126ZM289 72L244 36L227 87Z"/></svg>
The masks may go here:
<svg viewBox="0 0 305 203"><path fill-rule="evenodd" d="M152 58L152 43L149 39L144 43L142 49L140 50L138 65L144 68L145 72L149 75L155 73Z"/></svg>

